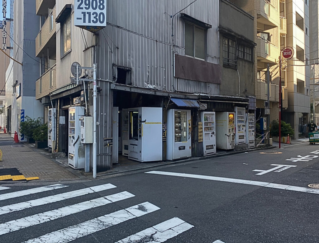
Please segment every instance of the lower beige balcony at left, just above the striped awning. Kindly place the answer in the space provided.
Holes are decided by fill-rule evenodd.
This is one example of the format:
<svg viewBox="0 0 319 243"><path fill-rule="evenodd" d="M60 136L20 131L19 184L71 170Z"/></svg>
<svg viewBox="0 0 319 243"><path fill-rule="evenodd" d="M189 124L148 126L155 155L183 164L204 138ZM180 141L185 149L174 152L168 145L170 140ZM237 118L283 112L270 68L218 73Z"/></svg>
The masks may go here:
<svg viewBox="0 0 319 243"><path fill-rule="evenodd" d="M35 82L35 99L39 100L42 97L48 96L50 92L56 89L56 64L51 69L46 71Z"/></svg>

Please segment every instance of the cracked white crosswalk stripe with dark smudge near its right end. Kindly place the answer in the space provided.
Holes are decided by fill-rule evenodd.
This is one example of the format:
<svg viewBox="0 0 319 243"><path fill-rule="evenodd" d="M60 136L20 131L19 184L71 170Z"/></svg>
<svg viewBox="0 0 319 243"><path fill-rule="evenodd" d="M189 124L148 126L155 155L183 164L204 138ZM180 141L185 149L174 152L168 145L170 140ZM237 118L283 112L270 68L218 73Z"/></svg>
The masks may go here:
<svg viewBox="0 0 319 243"><path fill-rule="evenodd" d="M73 225L56 232L42 235L38 238L30 239L26 243L53 243L53 242L70 242L80 237L98 232L110 226L120 224L129 219L143 216L145 214L159 210L160 208L152 203L145 202L130 208L106 214L104 216L85 221L78 225Z"/></svg>

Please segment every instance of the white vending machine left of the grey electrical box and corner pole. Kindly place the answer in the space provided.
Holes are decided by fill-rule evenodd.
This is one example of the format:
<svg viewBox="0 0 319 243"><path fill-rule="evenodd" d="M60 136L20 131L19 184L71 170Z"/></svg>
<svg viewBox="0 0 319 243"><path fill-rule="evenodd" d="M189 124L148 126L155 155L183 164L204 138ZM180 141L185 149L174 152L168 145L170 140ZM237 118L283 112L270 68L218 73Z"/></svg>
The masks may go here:
<svg viewBox="0 0 319 243"><path fill-rule="evenodd" d="M84 169L85 148L81 143L80 122L84 115L83 107L69 108L69 166L73 169Z"/></svg>

